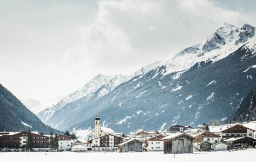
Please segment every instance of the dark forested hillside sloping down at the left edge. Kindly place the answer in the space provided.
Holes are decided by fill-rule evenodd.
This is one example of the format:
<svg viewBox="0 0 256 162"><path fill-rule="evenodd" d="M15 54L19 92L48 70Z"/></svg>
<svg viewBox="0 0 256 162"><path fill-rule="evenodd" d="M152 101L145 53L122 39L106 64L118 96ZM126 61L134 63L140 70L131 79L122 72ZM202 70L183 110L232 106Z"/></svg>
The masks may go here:
<svg viewBox="0 0 256 162"><path fill-rule="evenodd" d="M30 112L11 92L0 84L0 131L32 131L49 134L52 128ZM54 133L61 131L54 130Z"/></svg>

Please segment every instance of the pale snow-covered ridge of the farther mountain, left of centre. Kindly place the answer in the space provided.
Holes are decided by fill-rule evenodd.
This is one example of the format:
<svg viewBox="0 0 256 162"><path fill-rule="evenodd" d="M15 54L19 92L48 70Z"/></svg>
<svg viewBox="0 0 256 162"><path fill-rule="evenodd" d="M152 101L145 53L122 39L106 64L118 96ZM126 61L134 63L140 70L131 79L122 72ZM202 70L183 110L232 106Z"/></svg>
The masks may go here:
<svg viewBox="0 0 256 162"><path fill-rule="evenodd" d="M104 85L111 79L111 76L99 74L95 76L93 79L88 81L83 87L75 91L74 93L68 94L57 103L54 101L54 104L48 106L47 108L43 109L38 113L38 117L43 121L46 122L48 118L50 118L54 112L60 110L66 104L78 100L82 97L90 97L92 93L94 93L99 87ZM38 112L39 109L35 110L34 112Z"/></svg>

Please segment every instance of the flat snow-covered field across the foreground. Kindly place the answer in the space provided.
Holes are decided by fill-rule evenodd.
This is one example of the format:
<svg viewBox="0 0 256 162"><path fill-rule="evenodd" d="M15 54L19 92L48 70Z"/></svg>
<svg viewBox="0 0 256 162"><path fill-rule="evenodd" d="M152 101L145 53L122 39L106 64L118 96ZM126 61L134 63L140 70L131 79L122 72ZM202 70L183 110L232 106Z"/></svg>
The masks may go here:
<svg viewBox="0 0 256 162"><path fill-rule="evenodd" d="M46 155L47 154L47 155ZM168 154L159 152L129 153L74 153L74 152L8 152L0 153L0 162L244 162L254 161L256 149L233 152L211 151L194 152L193 154Z"/></svg>

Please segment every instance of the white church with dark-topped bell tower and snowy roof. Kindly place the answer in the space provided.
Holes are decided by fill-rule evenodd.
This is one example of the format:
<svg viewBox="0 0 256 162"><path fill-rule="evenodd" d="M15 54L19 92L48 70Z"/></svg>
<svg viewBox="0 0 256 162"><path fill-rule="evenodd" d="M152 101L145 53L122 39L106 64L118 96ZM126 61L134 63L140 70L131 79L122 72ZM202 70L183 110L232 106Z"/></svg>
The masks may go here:
<svg viewBox="0 0 256 162"><path fill-rule="evenodd" d="M115 131L113 131L111 128L101 127L101 119L99 117L99 113L97 113L94 123L94 130L92 132L92 137L97 138L108 134L115 135Z"/></svg>

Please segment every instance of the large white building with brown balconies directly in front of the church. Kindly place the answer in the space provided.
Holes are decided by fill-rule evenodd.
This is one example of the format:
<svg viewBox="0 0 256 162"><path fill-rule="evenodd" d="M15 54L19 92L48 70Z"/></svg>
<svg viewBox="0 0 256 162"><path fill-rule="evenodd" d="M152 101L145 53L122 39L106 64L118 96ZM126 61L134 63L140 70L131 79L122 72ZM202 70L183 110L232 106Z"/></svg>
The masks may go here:
<svg viewBox="0 0 256 162"><path fill-rule="evenodd" d="M88 140L88 143L92 143L93 151L115 151L119 149L119 144L125 142L126 139L115 135L105 135Z"/></svg>

